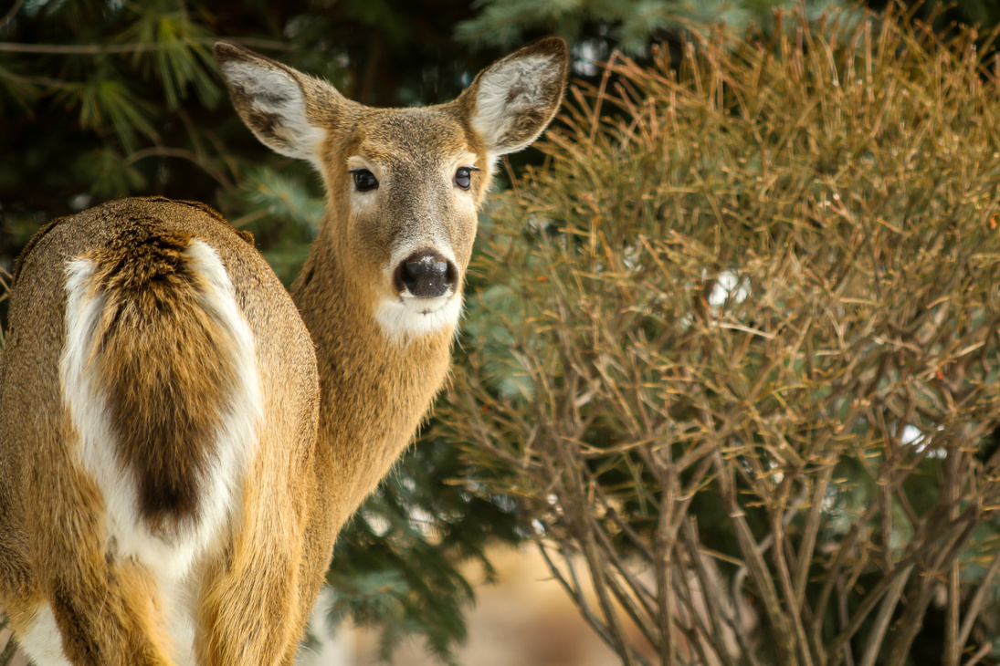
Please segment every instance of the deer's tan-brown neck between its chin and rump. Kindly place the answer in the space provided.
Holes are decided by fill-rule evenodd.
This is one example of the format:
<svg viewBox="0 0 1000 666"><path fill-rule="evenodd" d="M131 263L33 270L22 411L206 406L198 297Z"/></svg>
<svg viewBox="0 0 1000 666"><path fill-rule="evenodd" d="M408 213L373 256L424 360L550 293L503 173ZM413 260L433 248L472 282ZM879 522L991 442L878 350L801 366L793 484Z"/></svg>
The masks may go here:
<svg viewBox="0 0 1000 666"><path fill-rule="evenodd" d="M317 459L337 479L330 519L339 529L413 440L447 376L454 329L388 338L328 242L316 240L292 299L316 345Z"/></svg>

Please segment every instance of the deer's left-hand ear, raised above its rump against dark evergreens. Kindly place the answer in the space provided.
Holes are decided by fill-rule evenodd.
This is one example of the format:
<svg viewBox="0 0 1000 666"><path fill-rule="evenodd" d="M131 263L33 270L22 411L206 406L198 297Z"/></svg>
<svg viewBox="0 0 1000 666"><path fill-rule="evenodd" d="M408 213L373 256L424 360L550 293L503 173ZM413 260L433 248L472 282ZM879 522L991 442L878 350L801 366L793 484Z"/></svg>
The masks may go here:
<svg viewBox="0 0 1000 666"><path fill-rule="evenodd" d="M318 119L342 99L333 86L224 42L215 45L215 59L233 106L261 143L319 168L326 132Z"/></svg>

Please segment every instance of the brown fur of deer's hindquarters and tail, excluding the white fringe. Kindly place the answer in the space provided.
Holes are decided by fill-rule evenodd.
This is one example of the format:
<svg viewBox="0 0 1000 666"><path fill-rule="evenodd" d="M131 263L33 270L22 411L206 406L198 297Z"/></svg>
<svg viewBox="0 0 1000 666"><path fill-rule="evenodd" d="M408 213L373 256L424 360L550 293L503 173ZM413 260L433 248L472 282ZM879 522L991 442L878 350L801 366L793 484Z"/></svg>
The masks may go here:
<svg viewBox="0 0 1000 666"><path fill-rule="evenodd" d="M206 402L192 403L191 398L201 390L199 385L205 386L194 377L206 372L208 376L231 374L224 367L210 366L218 360L210 353L212 348L227 340L218 327L199 322L204 314L193 308L191 296L203 286L186 273L185 261L177 253L193 238L216 249L230 274L237 301L257 339L258 371L262 383L270 387L263 406L271 414L261 427L257 455L250 461L242 522L234 525L230 542L208 553L199 567L205 580L201 604L205 615L212 608L223 609L214 625L202 632L202 644L214 645L216 653L202 663L269 663L253 652L246 658L239 656L246 651L247 635L260 636L251 644L272 653L294 642L291 621L285 619L287 610L270 611L299 603L297 562L308 493L301 479L310 474L317 418L312 342L266 263L257 253L248 252L247 239L217 214L186 202L124 200L50 227L22 256L11 300L8 347L0 356L0 599L15 634L27 630L40 611L39 604L52 607L63 633L64 652L73 663L172 662L167 657L171 641L162 626L161 599L152 572L115 556L105 531L104 500L79 463L76 433L62 404L61 343L53 340L64 335L63 263L68 257L100 261L94 288L121 290L116 292L120 299L109 299L104 311L104 346L99 347L102 350L95 361L112 394L124 387L112 380L115 372L131 373L128 380L138 381L132 395L118 400L119 431L126 431L128 423L139 422L144 414L155 421L176 410L177 422L171 427L147 432L150 438L145 443L136 437L120 451L134 468L154 476L158 470L143 456L154 460L159 456L166 466L164 476L169 478L184 465L192 468L190 459L198 457L199 446L205 443L198 441L205 427L198 425L200 412L207 411L214 418L217 410L211 408L212 400L217 403L225 393L220 388L225 386L223 380L203 392ZM125 246L131 250L124 252ZM133 257L139 261L130 261ZM125 265L115 263L115 258L124 259ZM145 280L135 282L142 274ZM121 300L130 289L137 291ZM176 319L185 310L187 316L194 316L193 321ZM144 317L148 321L138 322ZM129 322L140 331L142 326L152 327L143 331L145 340L126 339ZM184 346L183 352L165 354L157 346L164 339ZM186 382L192 394L169 395L164 400L164 387L150 377L165 371L175 375L172 381L184 375L180 381ZM152 394L143 396L140 391ZM132 407L137 411L131 415L121 413ZM187 413L177 413L181 409ZM193 428L189 427L192 416ZM184 436L174 437L171 432ZM164 445L174 450L154 450ZM181 461L171 462L171 456ZM162 478L154 481L163 483ZM167 524L184 514L176 510L179 506L159 508L160 513L154 515L166 518ZM260 575L261 571L267 575ZM256 633L248 634L247 618L254 615L247 609L260 609L264 601L270 611L256 616ZM262 623L266 631L261 631ZM273 647L270 641L282 635L282 626L286 638Z"/></svg>

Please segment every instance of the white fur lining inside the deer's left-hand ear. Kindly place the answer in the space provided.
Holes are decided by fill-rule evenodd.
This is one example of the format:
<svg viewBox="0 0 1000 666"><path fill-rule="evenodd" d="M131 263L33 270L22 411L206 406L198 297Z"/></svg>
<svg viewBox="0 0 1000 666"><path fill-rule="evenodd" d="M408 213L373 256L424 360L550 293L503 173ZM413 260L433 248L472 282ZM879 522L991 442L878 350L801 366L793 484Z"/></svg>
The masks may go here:
<svg viewBox="0 0 1000 666"><path fill-rule="evenodd" d="M326 132L312 125L302 88L287 72L246 61L221 64L229 85L246 97L247 125L277 153L307 160L320 169L319 147Z"/></svg>

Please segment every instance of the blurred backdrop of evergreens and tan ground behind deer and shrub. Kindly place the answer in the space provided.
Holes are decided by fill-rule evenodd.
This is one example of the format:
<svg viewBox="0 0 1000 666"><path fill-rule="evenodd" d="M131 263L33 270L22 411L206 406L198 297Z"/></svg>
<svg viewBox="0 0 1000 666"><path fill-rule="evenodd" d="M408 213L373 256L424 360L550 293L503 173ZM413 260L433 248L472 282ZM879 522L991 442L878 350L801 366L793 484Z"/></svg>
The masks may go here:
<svg viewBox="0 0 1000 666"><path fill-rule="evenodd" d="M0 0L0 280L9 283L20 249L47 222L113 198L163 195L207 202L235 227L251 231L279 277L291 283L323 215L320 183L308 166L270 153L243 127L211 56L217 40L328 79L360 102L411 106L451 99L497 57L559 35L572 49L577 91L569 95L572 102L603 90L609 79L602 64L616 52L640 68L659 67L666 81L699 40L749 36L777 48L776 33L787 33L794 45L798 30L803 49L803 26L808 33L811 26L839 22L847 32L862 17L877 16L864 12L881 12L886 5L884 0L865 6L846 0ZM926 21L942 40L966 35L963 43L979 48L981 61L992 53L988 36L1000 21L1000 4L967 0L900 7L897 11ZM969 37L962 26L971 25L980 32ZM630 79L619 71L610 81L624 81L627 88ZM784 99L794 104L794 96ZM541 173L563 145L558 137L579 138L574 132L588 113L593 128L601 126L602 117L613 123L630 113L627 104L587 104L557 121L557 143L546 151L512 156L496 192L513 187L512 196L518 196L519 187L537 186L537 180L511 175ZM573 156L572 151L560 155ZM636 173L628 176L630 183L642 178L642 170ZM642 200L643 190L638 192L629 201ZM571 227L539 213L540 201L519 209L524 229L517 233L554 238ZM589 206L586 198L574 201L579 210ZM747 204L734 204L740 206ZM483 390L492 397L475 407L481 413L489 411L490 400L530 398L540 390L531 372L517 364L523 360L518 354L529 353L530 338L485 324L496 324L504 300L513 298L486 289L509 277L489 271L503 270L501 260L512 252L504 244L516 243L494 226L499 224L494 219L504 220L509 211L497 211L488 205L483 214L492 259L474 265L477 273L468 288L479 295L470 308L486 314L478 326L474 317L467 318L459 345L461 366L489 378ZM633 261L629 253L638 246L612 241L620 241L614 252L625 248L626 263ZM525 262L537 268L537 261ZM735 295L741 289L745 295L750 282L727 274L725 261L712 266L718 279L706 280L697 269L691 275L704 283L688 291L715 308L737 306L743 299ZM549 279L544 272L537 278ZM0 324L5 305L0 301ZM533 322L519 321L514 328ZM482 354L473 358L478 351ZM475 389L459 382L444 401L459 404L463 398L455 391ZM589 399L581 398L577 407ZM458 408L449 413L464 418ZM530 415L506 422L522 432L532 426ZM556 575L560 569L534 542L551 525L538 522L532 502L540 496L543 504L562 507L565 498L546 494L544 483L531 497L509 479L498 486L497 468L503 465L496 461L513 464L520 453L497 451L491 463L477 456L474 441L468 432L456 434L432 419L349 525L337 545L330 591L309 646L325 656L311 663L599 666L625 659L609 647L613 632L602 638L595 629L601 622L581 617L581 608L603 602L593 596L593 586L564 573L572 583L567 595L565 580ZM619 464L625 463L612 466ZM655 496L659 501L661 495ZM640 529L655 525L651 515L643 514ZM622 530L616 538L627 536ZM560 541L559 548L570 549L568 543ZM713 547L728 553L733 543L731 536L720 537ZM560 552L565 556L560 561L573 561L569 550ZM721 554L720 561L726 557ZM980 567L976 580L988 566L987 561ZM608 603L620 607L622 599ZM753 630L756 615L752 608L744 610ZM634 663L657 663L648 636L635 627L626 619L620 628L634 634ZM11 656L0 656L0 663Z"/></svg>

